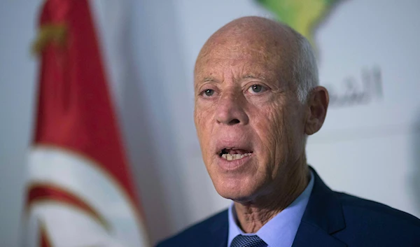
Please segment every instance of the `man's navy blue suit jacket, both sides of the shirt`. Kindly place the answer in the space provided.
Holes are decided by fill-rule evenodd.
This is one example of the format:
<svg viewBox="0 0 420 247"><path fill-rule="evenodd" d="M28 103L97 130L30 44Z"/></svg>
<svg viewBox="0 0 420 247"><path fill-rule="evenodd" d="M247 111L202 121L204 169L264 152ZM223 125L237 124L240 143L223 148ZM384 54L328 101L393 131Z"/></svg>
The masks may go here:
<svg viewBox="0 0 420 247"><path fill-rule="evenodd" d="M328 188L314 170L314 188L293 247L420 247L420 220L384 204ZM158 247L228 245L228 210L162 241Z"/></svg>

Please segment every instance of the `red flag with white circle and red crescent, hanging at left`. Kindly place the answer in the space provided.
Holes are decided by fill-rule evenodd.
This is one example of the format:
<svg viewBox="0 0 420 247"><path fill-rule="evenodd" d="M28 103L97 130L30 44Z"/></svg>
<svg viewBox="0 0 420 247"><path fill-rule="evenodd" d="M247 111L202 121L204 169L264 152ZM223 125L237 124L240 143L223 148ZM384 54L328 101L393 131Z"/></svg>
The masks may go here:
<svg viewBox="0 0 420 247"><path fill-rule="evenodd" d="M148 246L87 0L47 0L25 246Z"/></svg>

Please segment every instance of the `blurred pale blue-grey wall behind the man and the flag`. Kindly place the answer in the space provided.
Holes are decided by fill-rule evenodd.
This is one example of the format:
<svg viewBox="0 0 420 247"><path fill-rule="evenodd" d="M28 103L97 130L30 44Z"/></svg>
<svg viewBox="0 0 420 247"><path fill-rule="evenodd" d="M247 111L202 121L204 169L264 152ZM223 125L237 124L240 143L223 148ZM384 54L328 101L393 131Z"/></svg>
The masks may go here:
<svg viewBox="0 0 420 247"><path fill-rule="evenodd" d="M1 246L22 235L39 66L30 47L42 2L0 2ZM152 243L231 203L202 162L193 66L207 38L244 15L281 18L316 48L331 105L307 156L325 183L420 217L420 1L312 1L323 4L314 20L311 8L285 15L292 1L264 2L90 1Z"/></svg>

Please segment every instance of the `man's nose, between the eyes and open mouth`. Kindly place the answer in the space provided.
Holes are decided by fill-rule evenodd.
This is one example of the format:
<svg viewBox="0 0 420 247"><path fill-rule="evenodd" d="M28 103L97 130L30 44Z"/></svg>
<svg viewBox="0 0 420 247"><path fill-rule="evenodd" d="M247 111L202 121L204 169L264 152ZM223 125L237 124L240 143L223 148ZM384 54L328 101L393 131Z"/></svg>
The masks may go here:
<svg viewBox="0 0 420 247"><path fill-rule="evenodd" d="M222 95L216 109L216 121L224 125L247 125L248 115L244 111L243 95L227 93Z"/></svg>

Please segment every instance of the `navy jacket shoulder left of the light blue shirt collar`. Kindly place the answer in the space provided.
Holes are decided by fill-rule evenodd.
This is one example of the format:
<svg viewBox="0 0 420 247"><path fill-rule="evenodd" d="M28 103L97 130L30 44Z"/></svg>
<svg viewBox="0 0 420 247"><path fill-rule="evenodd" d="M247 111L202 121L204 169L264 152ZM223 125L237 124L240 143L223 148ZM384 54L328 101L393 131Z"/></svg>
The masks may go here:
<svg viewBox="0 0 420 247"><path fill-rule="evenodd" d="M179 234L161 241L157 247L197 246L197 244L200 246L202 241L213 237L218 232L225 233L226 231L220 231L224 226L228 226L228 210L216 213L214 216L210 216L209 218L202 220L200 223L188 227ZM218 237L220 238L222 236Z"/></svg>

